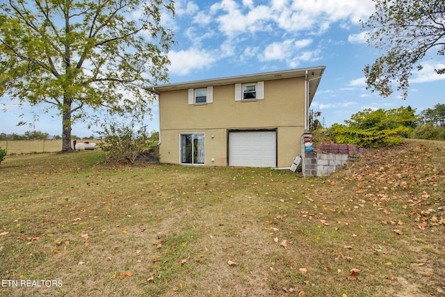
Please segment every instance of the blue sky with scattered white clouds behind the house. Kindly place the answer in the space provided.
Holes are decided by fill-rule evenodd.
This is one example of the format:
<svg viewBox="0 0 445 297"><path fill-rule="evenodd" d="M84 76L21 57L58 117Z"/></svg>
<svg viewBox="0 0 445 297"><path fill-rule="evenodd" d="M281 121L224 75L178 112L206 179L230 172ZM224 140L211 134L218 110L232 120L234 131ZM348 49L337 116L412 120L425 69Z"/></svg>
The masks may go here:
<svg viewBox="0 0 445 297"><path fill-rule="evenodd" d="M423 60L423 70L412 75L407 99L397 93L382 98L366 90L362 69L381 54L366 45L359 23L373 13L371 0L177 0L175 9L174 18L163 19L177 42L169 54L170 83L324 65L312 109L321 111L318 119L324 118L327 126L366 108L410 105L420 112L445 102L445 75L434 72L435 67L445 67L445 58L435 51ZM29 106L19 109L3 105L6 102L0 99L6 109L0 111L0 132L36 129L61 134L55 111L40 113L35 122ZM16 127L20 120L35 127ZM156 104L146 124L148 131L159 129ZM79 123L72 134L90 136L94 130Z"/></svg>

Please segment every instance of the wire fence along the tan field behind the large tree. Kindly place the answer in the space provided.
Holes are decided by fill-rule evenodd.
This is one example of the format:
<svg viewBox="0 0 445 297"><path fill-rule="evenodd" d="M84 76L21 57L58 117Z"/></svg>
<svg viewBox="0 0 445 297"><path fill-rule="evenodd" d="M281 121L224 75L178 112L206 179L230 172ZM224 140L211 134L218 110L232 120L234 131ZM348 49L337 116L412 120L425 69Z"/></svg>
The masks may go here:
<svg viewBox="0 0 445 297"><path fill-rule="evenodd" d="M98 143L95 140L78 140L77 143L90 141ZM74 149L74 145L72 145ZM0 148L6 150L6 154L37 154L43 152L60 152L62 151L62 140L39 140L39 141L0 141Z"/></svg>

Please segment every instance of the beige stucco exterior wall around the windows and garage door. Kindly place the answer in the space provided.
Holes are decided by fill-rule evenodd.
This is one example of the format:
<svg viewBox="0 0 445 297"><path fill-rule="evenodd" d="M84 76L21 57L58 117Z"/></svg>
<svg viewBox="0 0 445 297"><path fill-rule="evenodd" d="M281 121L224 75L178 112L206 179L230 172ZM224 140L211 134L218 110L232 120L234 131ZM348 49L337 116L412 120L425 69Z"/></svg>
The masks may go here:
<svg viewBox="0 0 445 297"><path fill-rule="evenodd" d="M236 102L234 84L213 86L209 104L188 104L187 89L161 92L161 162L180 163L180 133L204 132L204 165L227 166L229 130L277 129L277 166L289 167L300 153L304 97L303 77L264 81L264 99L252 101Z"/></svg>

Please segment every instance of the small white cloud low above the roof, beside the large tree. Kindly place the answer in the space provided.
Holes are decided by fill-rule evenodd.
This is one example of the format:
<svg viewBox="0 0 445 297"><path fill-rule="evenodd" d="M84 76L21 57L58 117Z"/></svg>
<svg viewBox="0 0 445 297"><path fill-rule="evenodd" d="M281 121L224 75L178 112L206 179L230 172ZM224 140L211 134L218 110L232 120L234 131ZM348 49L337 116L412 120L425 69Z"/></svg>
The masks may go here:
<svg viewBox="0 0 445 297"><path fill-rule="evenodd" d="M168 58L170 73L186 75L192 70L202 70L211 67L216 62L216 55L203 49L187 49L181 51L170 51Z"/></svg>

